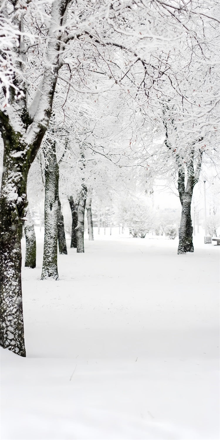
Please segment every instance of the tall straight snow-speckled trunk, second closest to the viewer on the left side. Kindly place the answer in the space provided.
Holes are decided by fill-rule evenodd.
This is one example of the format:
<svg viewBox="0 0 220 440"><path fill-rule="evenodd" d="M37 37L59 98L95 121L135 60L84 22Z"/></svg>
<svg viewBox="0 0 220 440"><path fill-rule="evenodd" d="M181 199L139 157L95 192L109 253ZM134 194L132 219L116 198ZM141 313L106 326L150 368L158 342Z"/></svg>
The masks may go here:
<svg viewBox="0 0 220 440"><path fill-rule="evenodd" d="M57 223L59 198L59 166L55 143L51 144L45 160L45 202L44 202L44 258L41 279L58 279L57 270Z"/></svg>

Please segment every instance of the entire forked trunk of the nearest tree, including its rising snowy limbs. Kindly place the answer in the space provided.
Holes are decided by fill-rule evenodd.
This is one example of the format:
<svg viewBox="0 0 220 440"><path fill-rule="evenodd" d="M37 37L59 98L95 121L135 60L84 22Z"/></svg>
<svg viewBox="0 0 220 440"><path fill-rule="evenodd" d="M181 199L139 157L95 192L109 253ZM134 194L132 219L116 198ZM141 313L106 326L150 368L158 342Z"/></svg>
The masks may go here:
<svg viewBox="0 0 220 440"><path fill-rule="evenodd" d="M17 4L14 4L15 11ZM21 238L26 209L27 175L48 128L59 70L63 15L68 0L54 2L45 64L40 86L27 107L26 48L24 38L11 50L15 52L13 85L8 102L0 110L0 131L4 142L3 175L0 191L0 345L26 356L22 311ZM14 12L15 12L14 11ZM24 14L13 13L16 28L24 31ZM20 72L20 73L19 73ZM19 96L15 90L19 90ZM3 92L5 90L3 89ZM41 99L43 97L43 99Z"/></svg>

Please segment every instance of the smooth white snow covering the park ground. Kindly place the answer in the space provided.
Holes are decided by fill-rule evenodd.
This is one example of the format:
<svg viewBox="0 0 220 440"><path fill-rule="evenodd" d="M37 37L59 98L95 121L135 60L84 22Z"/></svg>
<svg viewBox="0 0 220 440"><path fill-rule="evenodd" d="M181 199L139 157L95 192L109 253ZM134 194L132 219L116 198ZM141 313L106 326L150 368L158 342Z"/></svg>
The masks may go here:
<svg viewBox="0 0 220 440"><path fill-rule="evenodd" d="M27 358L1 350L1 440L218 439L220 248L108 232L40 281L37 238Z"/></svg>

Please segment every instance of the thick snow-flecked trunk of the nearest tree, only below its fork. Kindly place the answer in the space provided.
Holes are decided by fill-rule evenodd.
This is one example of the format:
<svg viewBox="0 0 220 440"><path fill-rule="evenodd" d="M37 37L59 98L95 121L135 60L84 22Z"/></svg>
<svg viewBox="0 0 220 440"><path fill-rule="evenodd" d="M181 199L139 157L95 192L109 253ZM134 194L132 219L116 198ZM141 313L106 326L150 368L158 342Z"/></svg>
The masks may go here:
<svg viewBox="0 0 220 440"><path fill-rule="evenodd" d="M24 155L18 164L14 153L19 152L19 138L16 137L16 133L12 135L10 142L4 139L0 191L0 345L20 356L26 356L22 311L21 238L26 209L28 160ZM17 144L13 144L13 140L16 139Z"/></svg>

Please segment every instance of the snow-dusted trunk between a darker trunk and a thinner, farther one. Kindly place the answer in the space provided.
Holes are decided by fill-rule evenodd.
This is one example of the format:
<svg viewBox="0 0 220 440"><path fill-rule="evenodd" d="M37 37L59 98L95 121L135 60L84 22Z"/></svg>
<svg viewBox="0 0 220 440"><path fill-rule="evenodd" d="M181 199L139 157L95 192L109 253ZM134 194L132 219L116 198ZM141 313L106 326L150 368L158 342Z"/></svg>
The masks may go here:
<svg viewBox="0 0 220 440"><path fill-rule="evenodd" d="M77 216L78 223L75 228L77 237L77 253L84 253L84 216L85 216L85 202L86 202L86 187L83 185L77 201Z"/></svg>

